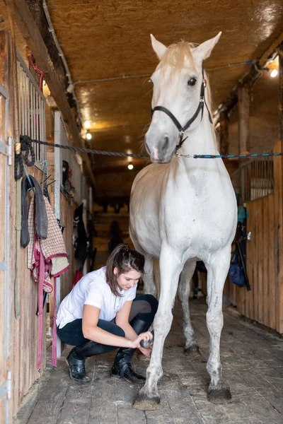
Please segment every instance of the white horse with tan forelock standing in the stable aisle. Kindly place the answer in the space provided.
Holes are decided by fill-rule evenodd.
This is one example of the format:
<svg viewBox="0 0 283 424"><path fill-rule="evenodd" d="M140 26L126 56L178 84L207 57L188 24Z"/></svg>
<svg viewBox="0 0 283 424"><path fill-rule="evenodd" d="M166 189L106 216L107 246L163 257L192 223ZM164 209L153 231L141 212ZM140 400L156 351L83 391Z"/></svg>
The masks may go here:
<svg viewBox="0 0 283 424"><path fill-rule="evenodd" d="M145 145L154 164L141 170L134 180L129 230L134 247L146 257L147 293L155 293L153 259L159 259L161 294L146 383L134 408L152 409L160 402L157 383L162 376L163 344L171 329L179 276L185 349L187 352L197 349L188 296L190 279L199 259L207 268L210 334L207 370L211 377L208 396L212 401L231 399L229 385L221 376L219 344L223 326L222 294L236 231L236 196L220 158L190 157L219 154L202 61L209 57L220 35L198 47L182 41L168 48L151 35L160 63L151 76L153 117ZM180 155L175 155L176 142Z"/></svg>

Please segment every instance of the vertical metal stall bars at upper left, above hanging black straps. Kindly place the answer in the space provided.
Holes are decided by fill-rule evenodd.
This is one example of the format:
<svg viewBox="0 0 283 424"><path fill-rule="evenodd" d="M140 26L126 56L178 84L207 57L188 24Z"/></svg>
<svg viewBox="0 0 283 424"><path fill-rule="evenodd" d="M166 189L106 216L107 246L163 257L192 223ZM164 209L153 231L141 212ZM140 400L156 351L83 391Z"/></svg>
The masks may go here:
<svg viewBox="0 0 283 424"><path fill-rule="evenodd" d="M45 96L18 52L17 64L20 134L30 136L33 140L46 141ZM46 146L33 143L33 149L35 151L35 166L42 170L46 159Z"/></svg>

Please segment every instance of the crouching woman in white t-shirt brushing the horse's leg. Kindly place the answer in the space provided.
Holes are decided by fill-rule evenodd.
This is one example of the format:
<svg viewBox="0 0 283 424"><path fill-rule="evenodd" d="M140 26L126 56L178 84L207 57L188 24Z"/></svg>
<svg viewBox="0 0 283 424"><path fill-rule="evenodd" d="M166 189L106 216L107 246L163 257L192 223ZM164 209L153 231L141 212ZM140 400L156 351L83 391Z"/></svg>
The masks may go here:
<svg viewBox="0 0 283 424"><path fill-rule="evenodd" d="M118 245L106 266L83 276L62 300L57 314L57 334L71 346L67 357L71 379L90 382L86 375L86 358L116 348L111 375L129 382L144 382L136 374L131 360L136 348L148 358L151 349L142 348L149 340L149 330L158 301L152 295L136 296L137 283L144 273L144 256L128 245Z"/></svg>

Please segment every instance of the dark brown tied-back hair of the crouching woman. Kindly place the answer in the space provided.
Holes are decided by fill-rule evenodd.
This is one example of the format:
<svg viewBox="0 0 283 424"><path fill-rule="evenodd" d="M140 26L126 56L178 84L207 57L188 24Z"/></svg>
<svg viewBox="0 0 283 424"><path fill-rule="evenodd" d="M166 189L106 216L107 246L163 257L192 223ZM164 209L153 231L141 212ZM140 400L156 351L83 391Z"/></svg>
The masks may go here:
<svg viewBox="0 0 283 424"><path fill-rule="evenodd" d="M118 270L116 275L115 268ZM117 277L132 270L144 273L144 255L129 249L128 245L118 245L110 254L106 264L106 281L115 296L121 296L117 290Z"/></svg>

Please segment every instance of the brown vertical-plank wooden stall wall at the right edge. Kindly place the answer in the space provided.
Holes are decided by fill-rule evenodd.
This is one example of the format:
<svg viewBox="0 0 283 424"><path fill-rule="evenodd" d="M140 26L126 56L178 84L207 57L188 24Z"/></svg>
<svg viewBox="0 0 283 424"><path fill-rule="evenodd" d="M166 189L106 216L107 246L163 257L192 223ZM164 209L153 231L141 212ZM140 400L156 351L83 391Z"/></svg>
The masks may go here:
<svg viewBox="0 0 283 424"><path fill-rule="evenodd" d="M275 152L282 152L282 141ZM250 292L227 282L226 293L238 311L283 333L283 160L274 157L274 194L247 204L251 232L247 243Z"/></svg>

